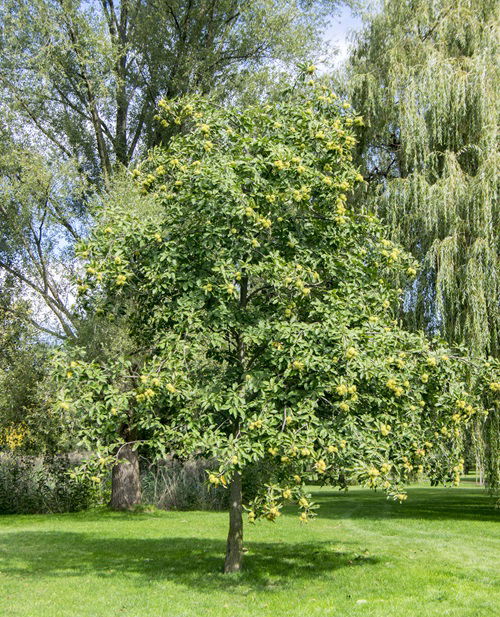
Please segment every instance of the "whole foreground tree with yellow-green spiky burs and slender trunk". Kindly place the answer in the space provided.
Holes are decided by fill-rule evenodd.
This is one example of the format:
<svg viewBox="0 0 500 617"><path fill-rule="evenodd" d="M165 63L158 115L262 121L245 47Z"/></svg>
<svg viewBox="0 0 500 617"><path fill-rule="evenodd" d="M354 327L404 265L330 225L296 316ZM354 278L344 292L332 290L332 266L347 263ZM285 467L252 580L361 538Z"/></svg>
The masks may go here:
<svg viewBox="0 0 500 617"><path fill-rule="evenodd" d="M292 501L305 522L307 481L356 479L401 501L414 473L458 482L460 436L494 404L495 367L393 320L390 277L415 265L346 206L362 180L349 105L311 80L243 111L202 98L160 108L183 130L135 171L143 208L104 203L81 247L91 297L148 349L134 390L88 374L115 364L74 361L61 396L92 415L92 440L135 399L152 448L215 457L208 480L231 493L225 572L241 568L244 505L274 521ZM107 394L89 405L96 387ZM256 462L249 503L242 474Z"/></svg>

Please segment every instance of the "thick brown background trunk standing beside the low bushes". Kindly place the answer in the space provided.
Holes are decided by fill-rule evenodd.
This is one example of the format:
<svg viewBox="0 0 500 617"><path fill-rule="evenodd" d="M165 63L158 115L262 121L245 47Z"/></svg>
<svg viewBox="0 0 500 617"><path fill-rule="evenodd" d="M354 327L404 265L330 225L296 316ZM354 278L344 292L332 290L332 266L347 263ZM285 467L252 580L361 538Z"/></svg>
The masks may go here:
<svg viewBox="0 0 500 617"><path fill-rule="evenodd" d="M130 510L141 503L141 477L139 455L132 444L122 446L111 475L111 501L113 510Z"/></svg>

